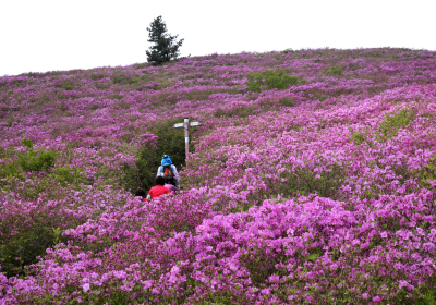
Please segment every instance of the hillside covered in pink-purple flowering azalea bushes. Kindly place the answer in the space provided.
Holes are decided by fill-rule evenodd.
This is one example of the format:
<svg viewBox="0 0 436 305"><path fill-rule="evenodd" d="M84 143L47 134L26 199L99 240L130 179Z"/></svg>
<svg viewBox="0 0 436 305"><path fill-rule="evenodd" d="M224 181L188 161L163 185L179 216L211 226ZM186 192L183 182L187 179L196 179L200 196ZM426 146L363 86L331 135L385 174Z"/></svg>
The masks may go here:
<svg viewBox="0 0 436 305"><path fill-rule="evenodd" d="M425 50L0 77L0 304L436 304L435 111Z"/></svg>

